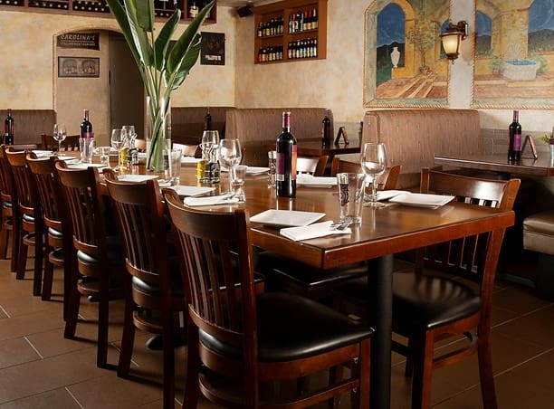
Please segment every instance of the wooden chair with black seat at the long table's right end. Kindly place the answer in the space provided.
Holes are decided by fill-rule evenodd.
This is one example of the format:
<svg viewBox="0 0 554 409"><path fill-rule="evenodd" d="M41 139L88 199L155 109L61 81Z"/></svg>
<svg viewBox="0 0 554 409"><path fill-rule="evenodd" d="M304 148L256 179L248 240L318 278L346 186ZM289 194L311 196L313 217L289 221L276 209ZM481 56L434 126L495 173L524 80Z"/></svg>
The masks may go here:
<svg viewBox="0 0 554 409"><path fill-rule="evenodd" d="M454 195L468 205L511 210L519 179L487 180L423 169L421 192ZM415 271L393 277L393 331L408 339L393 340L405 355L406 376L412 379L412 408L428 408L432 373L475 352L479 359L482 403L496 408L491 362L492 287L505 229L482 233L417 251ZM350 281L333 293L335 307L372 322L371 286ZM455 350L438 355L435 343L458 340ZM435 353L435 356L434 356Z"/></svg>

